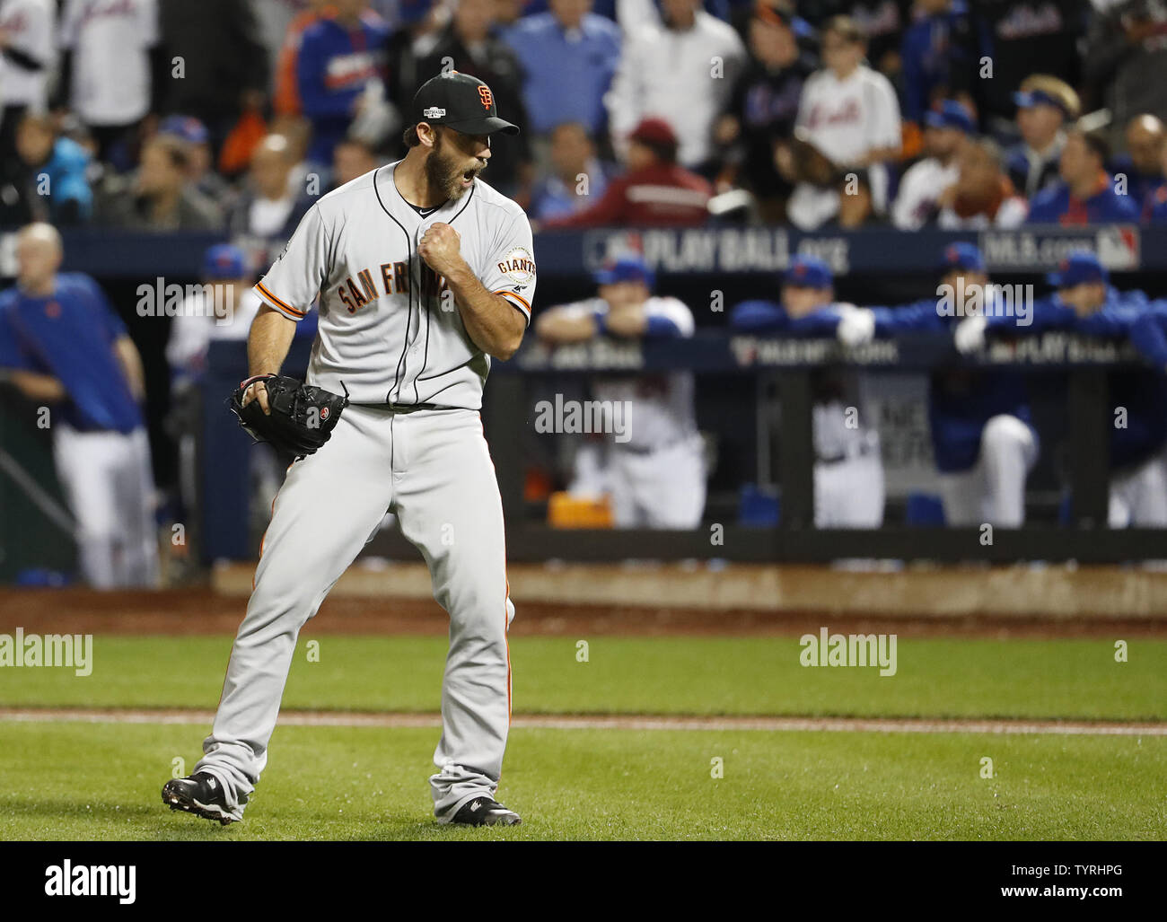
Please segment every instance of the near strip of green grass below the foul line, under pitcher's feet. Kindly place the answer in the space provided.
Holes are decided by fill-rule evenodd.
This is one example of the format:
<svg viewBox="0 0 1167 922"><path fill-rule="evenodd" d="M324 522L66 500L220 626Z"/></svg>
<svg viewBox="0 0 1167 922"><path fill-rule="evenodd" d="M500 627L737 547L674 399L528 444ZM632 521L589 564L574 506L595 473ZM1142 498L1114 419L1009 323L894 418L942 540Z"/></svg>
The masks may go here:
<svg viewBox="0 0 1167 922"><path fill-rule="evenodd" d="M190 726L7 724L0 839L1161 839L1167 740L517 729L512 830L436 826L435 731L284 727L226 829L167 810ZM979 777L980 760L995 777ZM724 759L725 777L711 777ZM189 762L188 762L189 764Z"/></svg>

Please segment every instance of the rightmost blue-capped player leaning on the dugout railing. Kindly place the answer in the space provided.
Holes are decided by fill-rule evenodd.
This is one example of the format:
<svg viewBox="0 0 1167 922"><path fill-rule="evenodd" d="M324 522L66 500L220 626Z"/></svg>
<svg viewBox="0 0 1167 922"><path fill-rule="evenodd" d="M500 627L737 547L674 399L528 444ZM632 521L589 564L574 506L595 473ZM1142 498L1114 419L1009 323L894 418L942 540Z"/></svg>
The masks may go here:
<svg viewBox="0 0 1167 922"><path fill-rule="evenodd" d="M967 317L957 328L957 348L979 349L985 331L992 329L1018 334L1060 329L1128 338L1158 369L1107 375L1113 421L1107 521L1112 529L1167 528L1167 378L1161 373L1162 352L1155 345L1154 329L1146 322L1161 312L1152 310L1142 292L1114 288L1106 267L1091 252L1071 253L1048 281L1056 291L1034 302L1032 323L1014 326L1001 315Z"/></svg>

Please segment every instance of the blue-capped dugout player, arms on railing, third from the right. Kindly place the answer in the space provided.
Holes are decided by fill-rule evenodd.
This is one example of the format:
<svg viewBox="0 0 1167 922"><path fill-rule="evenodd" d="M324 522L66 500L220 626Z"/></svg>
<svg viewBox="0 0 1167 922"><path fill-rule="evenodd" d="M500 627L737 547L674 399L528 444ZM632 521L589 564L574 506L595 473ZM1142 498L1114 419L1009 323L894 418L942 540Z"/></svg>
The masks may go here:
<svg viewBox="0 0 1167 922"><path fill-rule="evenodd" d="M834 278L818 257L796 257L782 285L782 303L743 301L729 317L740 333L834 336L854 305L834 301ZM815 397L815 525L878 529L883 523L883 462L879 433L864 425L853 375L818 369Z"/></svg>

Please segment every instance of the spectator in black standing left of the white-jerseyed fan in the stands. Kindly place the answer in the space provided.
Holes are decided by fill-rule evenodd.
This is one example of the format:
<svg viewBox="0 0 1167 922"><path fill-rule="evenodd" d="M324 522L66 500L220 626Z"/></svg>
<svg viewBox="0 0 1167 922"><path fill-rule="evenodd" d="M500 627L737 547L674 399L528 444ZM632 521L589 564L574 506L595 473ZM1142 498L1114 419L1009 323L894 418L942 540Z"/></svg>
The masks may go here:
<svg viewBox="0 0 1167 922"><path fill-rule="evenodd" d="M777 147L798 118L803 84L813 57L798 46L809 29L789 0L761 0L748 23L749 63L734 86L714 139L727 151L718 186L742 186L759 201L762 217L781 218L790 183L775 168Z"/></svg>

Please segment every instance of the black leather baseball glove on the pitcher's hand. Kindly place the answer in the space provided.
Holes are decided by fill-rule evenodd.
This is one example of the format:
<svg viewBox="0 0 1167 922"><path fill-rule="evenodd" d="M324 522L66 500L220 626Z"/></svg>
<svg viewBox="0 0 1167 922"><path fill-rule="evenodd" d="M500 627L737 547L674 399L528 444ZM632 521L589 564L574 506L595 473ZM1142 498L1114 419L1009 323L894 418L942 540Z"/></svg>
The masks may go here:
<svg viewBox="0 0 1167 922"><path fill-rule="evenodd" d="M244 393L257 380L267 389L270 415L264 413L258 399L243 405ZM344 397L340 397L286 375L257 375L236 389L228 405L257 442L270 442L277 450L303 457L333 438L333 429L349 405L349 394L348 389Z"/></svg>

